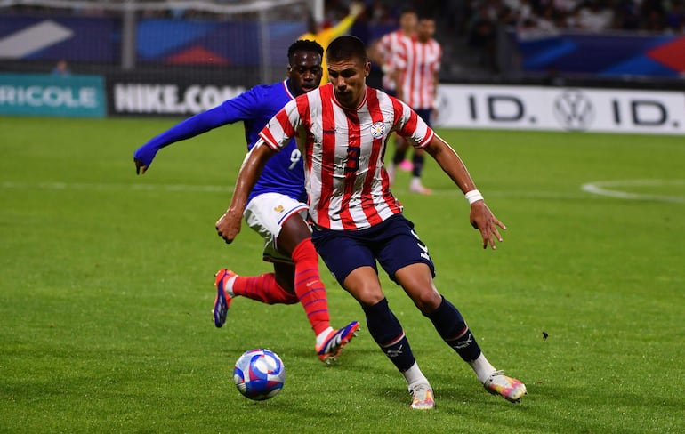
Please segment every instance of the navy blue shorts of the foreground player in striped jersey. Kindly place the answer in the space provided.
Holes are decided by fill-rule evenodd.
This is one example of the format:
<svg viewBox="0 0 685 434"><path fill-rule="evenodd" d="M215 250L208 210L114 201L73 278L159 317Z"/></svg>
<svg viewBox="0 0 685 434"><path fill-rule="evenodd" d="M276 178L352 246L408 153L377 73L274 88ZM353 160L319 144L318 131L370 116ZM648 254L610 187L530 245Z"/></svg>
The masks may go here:
<svg viewBox="0 0 685 434"><path fill-rule="evenodd" d="M341 286L345 278L359 267L373 267L377 274L376 261L393 282L398 269L415 263L428 265L435 277L428 247L416 235L414 223L402 214L395 214L383 223L362 230L315 227L311 241Z"/></svg>

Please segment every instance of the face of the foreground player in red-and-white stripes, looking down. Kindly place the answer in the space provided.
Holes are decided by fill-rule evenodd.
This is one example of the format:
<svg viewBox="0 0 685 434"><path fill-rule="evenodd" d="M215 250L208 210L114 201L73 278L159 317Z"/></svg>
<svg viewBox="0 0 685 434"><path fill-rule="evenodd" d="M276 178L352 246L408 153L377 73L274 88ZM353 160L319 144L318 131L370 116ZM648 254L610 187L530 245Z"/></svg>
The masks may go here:
<svg viewBox="0 0 685 434"><path fill-rule="evenodd" d="M328 62L328 78L333 84L335 99L346 109L357 109L367 92L367 76L371 64L352 58Z"/></svg>

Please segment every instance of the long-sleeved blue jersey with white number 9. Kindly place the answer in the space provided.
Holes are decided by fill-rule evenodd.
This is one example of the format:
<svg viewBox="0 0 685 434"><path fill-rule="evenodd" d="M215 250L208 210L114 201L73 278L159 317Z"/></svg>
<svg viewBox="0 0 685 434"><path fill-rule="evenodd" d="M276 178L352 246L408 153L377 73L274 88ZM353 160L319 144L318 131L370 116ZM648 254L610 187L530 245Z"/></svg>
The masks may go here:
<svg viewBox="0 0 685 434"><path fill-rule="evenodd" d="M255 86L232 100L223 101L214 109L189 117L136 149L133 157L144 165L150 165L159 149L173 142L206 133L217 126L238 121L243 121L247 149L252 149L264 125L269 123L278 110L283 109L286 102L294 99L287 84L288 80ZM248 201L262 193L280 193L300 202L307 201L302 155L294 140L267 161L262 175L250 192Z"/></svg>

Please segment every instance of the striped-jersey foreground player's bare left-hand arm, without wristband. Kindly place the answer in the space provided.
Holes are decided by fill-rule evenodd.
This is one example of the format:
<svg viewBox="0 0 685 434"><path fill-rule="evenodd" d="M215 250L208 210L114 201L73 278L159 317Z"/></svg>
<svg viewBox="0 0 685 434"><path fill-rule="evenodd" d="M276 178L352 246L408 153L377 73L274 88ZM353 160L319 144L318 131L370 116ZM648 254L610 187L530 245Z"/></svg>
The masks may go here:
<svg viewBox="0 0 685 434"><path fill-rule="evenodd" d="M229 209L216 221L216 232L226 244L230 244L240 232L240 223L243 211L247 204L247 196L254 188L259 179L262 169L267 160L276 153L275 150L266 146L260 139L254 144L253 149L247 153L243 165L240 166L236 187L233 189L233 197L230 199Z"/></svg>

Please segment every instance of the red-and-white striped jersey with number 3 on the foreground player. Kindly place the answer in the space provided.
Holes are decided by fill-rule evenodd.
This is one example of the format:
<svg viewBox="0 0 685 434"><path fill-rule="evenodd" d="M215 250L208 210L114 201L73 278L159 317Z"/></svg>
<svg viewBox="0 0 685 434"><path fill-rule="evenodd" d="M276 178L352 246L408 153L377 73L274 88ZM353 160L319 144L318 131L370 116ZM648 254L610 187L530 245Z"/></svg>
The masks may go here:
<svg viewBox="0 0 685 434"><path fill-rule="evenodd" d="M260 136L272 149L291 137L304 156L310 218L334 230L374 226L401 212L383 167L391 132L425 147L434 133L404 102L367 87L358 109L343 109L332 84L291 100Z"/></svg>

